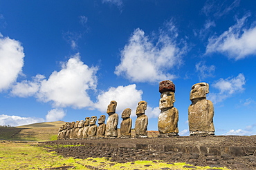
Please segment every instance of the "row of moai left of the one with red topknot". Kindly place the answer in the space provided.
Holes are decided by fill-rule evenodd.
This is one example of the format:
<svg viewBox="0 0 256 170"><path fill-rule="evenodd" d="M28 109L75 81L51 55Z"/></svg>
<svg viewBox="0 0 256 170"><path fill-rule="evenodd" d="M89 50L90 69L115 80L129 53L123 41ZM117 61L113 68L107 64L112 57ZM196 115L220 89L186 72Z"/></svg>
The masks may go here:
<svg viewBox="0 0 256 170"><path fill-rule="evenodd" d="M86 117L85 120L80 120L72 123L65 123L60 127L58 139L84 139L84 138L117 138L118 137L118 114L116 114L116 101L112 100L107 107L107 125L104 123L106 116L102 115L98 119L96 125L96 116ZM136 109L135 131L136 137L147 138L148 118L145 115L147 102L140 101ZM127 108L122 111L122 123L120 128L120 138L131 137L132 120L131 109Z"/></svg>

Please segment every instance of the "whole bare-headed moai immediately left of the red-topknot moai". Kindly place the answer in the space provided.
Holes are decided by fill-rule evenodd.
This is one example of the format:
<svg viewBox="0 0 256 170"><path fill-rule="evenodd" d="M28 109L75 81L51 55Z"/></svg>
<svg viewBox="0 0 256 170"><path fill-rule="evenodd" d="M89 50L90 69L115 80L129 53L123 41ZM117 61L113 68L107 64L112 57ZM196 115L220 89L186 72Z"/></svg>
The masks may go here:
<svg viewBox="0 0 256 170"><path fill-rule="evenodd" d="M135 122L135 133L137 138L147 138L147 124L148 118L145 115L147 109L147 102L140 101L136 109L136 122Z"/></svg>

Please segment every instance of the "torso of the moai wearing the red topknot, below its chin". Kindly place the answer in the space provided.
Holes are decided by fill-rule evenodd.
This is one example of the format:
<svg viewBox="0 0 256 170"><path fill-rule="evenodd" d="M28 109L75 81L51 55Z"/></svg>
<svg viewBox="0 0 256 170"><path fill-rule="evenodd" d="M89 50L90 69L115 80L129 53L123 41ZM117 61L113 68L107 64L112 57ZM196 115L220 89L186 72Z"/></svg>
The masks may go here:
<svg viewBox="0 0 256 170"><path fill-rule="evenodd" d="M158 131L160 134L178 133L179 112L175 107L161 111L158 116Z"/></svg>

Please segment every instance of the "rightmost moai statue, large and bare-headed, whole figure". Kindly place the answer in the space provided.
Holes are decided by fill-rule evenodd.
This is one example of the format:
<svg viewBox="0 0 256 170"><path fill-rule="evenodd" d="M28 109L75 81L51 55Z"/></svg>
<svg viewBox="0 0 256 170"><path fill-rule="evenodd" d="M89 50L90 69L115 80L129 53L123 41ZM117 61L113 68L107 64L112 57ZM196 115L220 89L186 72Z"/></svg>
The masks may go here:
<svg viewBox="0 0 256 170"><path fill-rule="evenodd" d="M188 123L190 136L214 135L214 108L210 100L206 100L209 93L208 83L196 83L190 91L191 105L188 107Z"/></svg>

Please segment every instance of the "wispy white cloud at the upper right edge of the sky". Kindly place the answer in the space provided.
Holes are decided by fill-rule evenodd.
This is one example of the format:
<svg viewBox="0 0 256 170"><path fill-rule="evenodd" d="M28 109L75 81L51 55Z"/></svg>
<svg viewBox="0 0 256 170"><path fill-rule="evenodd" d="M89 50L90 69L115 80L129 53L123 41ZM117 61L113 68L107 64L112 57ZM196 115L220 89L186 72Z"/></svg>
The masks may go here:
<svg viewBox="0 0 256 170"><path fill-rule="evenodd" d="M220 52L236 61L256 54L256 26L245 28L249 16L246 14L242 19L237 19L237 23L220 36L212 36L205 54Z"/></svg>

